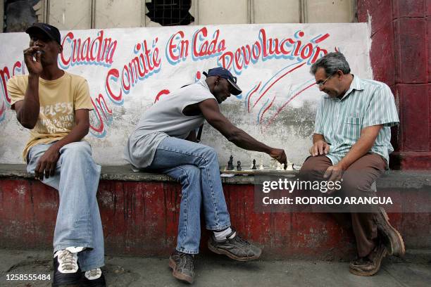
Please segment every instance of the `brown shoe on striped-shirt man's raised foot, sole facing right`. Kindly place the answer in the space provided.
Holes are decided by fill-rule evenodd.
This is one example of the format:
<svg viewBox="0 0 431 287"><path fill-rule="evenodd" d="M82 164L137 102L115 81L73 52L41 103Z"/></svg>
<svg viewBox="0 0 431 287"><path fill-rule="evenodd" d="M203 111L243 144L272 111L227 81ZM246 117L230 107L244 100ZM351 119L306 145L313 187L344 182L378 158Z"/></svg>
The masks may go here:
<svg viewBox="0 0 431 287"><path fill-rule="evenodd" d="M404 241L401 234L389 223L389 217L385 209L379 208L375 215L377 230L380 231L382 242L387 248L389 255L403 256L406 253Z"/></svg>

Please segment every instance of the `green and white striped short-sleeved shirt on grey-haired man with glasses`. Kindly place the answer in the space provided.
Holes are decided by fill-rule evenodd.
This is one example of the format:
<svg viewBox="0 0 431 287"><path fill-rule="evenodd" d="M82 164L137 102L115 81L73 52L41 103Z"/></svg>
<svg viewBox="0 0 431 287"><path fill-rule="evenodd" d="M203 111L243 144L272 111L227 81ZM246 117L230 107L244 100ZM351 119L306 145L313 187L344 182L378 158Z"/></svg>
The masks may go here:
<svg viewBox="0 0 431 287"><path fill-rule="evenodd" d="M394 151L390 127L398 123L394 96L387 84L354 76L341 99L323 96L314 133L325 137L330 145L327 157L335 165L356 144L364 127L383 125L369 153L382 155L389 163L389 153Z"/></svg>

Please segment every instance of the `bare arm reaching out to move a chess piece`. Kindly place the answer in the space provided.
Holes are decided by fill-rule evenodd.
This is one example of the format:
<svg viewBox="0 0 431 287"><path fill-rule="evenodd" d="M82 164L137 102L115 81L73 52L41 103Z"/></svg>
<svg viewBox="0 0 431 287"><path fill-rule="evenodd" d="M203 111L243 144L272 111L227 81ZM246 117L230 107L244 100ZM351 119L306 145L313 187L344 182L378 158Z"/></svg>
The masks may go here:
<svg viewBox="0 0 431 287"><path fill-rule="evenodd" d="M248 151L260 151L262 153L268 153L272 158L277 159L281 163L287 163L285 151L280 148L271 148L266 144L254 139L242 129L235 127L227 118L220 113L218 103L213 99L201 101L199 103L199 109L204 115L206 121L215 129L217 129L225 138Z"/></svg>

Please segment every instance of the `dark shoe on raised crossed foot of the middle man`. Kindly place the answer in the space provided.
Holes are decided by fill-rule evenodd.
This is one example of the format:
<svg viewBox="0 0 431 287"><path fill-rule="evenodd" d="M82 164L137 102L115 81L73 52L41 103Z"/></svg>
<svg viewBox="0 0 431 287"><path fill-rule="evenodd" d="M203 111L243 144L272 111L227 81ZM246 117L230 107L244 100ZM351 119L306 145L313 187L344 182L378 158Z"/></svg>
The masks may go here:
<svg viewBox="0 0 431 287"><path fill-rule="evenodd" d="M211 234L208 240L208 248L213 253L224 254L233 260L250 261L256 260L261 256L262 250L248 241L237 235L237 232L232 229L232 232L226 236L225 240L218 241L214 234Z"/></svg>

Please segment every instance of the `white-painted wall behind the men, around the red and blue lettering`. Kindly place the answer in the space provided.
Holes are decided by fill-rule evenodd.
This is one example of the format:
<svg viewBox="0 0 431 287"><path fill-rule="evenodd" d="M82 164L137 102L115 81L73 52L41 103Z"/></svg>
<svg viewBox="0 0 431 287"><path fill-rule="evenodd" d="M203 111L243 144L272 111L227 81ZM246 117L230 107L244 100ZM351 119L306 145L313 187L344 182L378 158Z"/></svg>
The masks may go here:
<svg viewBox="0 0 431 287"><path fill-rule="evenodd" d="M202 72L222 63L225 53L235 53L246 44L259 42L259 32L264 29L267 39L295 39L301 40L301 47L305 47L312 39L328 34L328 37L318 44L321 49L334 51L335 47L346 55L355 75L372 78L369 59L369 31L366 23L350 24L269 24L269 25L208 25L207 37L198 41L201 46L206 40L211 42L214 33L218 30L218 44L225 41L225 49L221 53L192 58L192 38L197 30L204 26L183 27L147 27L103 30L104 38L111 38L117 43L113 62L106 65L95 65L83 61L75 65L64 66L68 72L82 75L87 78L90 94L94 103L99 95L106 101L106 106L96 106L92 112L92 133L87 136L93 147L94 158L103 165L122 165L123 146L127 136L132 132L139 117L155 101L156 95L163 89L175 91L184 84L196 80L196 72ZM184 32L184 39L189 41L188 56L178 63L166 56L169 39L178 31ZM101 30L73 30L74 39L94 40ZM232 32L235 31L235 32ZM304 36L299 36L299 32ZM63 37L70 31L62 31ZM298 39L295 38L298 37ZM154 39L157 38L157 43ZM132 58L139 56L137 44L146 41L149 49L154 52L158 49L160 68L148 77L137 80L129 89L123 89L122 97L108 94L106 79L115 96L121 90L121 76L117 82L108 77L113 69L123 74L124 65L130 63ZM28 35L25 33L0 34L1 53L0 69L8 69L9 75L20 74L22 69L14 64L18 61L22 65L22 51L28 45ZM8 43L8 49L5 44ZM64 42L63 57L68 59L72 53L69 42ZM289 50L285 47L285 50ZM291 47L293 48L293 47ZM139 49L137 49L139 50ZM290 51L290 50L289 50ZM302 48L299 51L303 51ZM305 52L304 52L305 53ZM85 54L85 53L84 53ZM239 86L243 89L241 96L232 96L221 105L222 112L235 125L255 136L256 139L278 148L285 148L289 160L301 164L308 154L313 132L313 120L316 106L322 93L313 84L313 77L309 74L309 58L301 60L297 56L292 58L282 56L260 56L256 61L250 62L247 68L229 68L237 75ZM292 70L289 73L289 70ZM7 80L7 77L5 77ZM127 78L125 79L127 82ZM1 81L0 81L1 82ZM28 132L21 127L15 117L15 112L8 108L8 97L4 87L0 86L0 162L20 163L21 151L28 139ZM310 86L310 87L308 87ZM308 89L305 89L308 87ZM303 92L300 93L300 91ZM126 93L128 91L128 93ZM164 95L168 96L168 95ZM260 100L259 100L260 98ZM273 103L270 105L270 103ZM111 113L108 112L111 110ZM104 116L104 114L106 116ZM103 129L99 128L104 126ZM224 165L229 155L235 155L235 160L241 160L248 165L253 158L260 160L261 154L244 151L230 144L220 133L206 125L202 135L202 143L213 146L219 153L220 163ZM266 162L268 156L263 157Z"/></svg>

